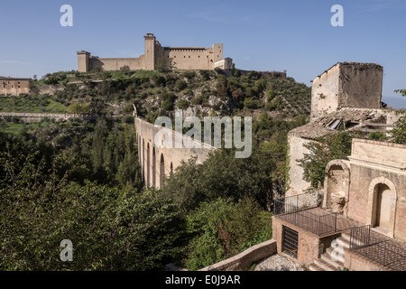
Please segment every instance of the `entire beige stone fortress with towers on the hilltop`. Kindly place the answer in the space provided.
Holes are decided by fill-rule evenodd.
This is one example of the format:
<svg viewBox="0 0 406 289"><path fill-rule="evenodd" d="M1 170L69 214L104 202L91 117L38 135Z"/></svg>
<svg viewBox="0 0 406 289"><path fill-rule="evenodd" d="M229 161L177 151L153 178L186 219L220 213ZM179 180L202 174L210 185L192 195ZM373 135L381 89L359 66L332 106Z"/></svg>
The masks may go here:
<svg viewBox="0 0 406 289"><path fill-rule="evenodd" d="M231 70L233 60L223 58L223 44L212 47L162 47L152 33L143 36L145 53L138 58L98 58L88 51L78 51L78 71L96 69L120 70L128 66L130 70L157 70L162 65L174 70Z"/></svg>

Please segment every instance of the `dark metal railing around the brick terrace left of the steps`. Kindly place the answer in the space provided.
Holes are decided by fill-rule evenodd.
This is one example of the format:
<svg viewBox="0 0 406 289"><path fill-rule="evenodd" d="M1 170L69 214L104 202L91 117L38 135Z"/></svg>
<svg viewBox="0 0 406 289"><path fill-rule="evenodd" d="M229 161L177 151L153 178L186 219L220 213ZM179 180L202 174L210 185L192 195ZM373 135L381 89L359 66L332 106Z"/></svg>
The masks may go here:
<svg viewBox="0 0 406 289"><path fill-rule="evenodd" d="M318 236L337 231L337 213L317 215L309 209L318 207L318 195L300 194L274 200L274 215Z"/></svg>

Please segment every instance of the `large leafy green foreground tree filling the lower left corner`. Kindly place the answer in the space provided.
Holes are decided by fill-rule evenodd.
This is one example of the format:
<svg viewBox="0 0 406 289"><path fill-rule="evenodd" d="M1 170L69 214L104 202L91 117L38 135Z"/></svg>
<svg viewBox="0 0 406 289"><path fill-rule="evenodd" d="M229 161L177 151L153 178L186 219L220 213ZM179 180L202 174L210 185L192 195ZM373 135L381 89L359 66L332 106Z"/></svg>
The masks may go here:
<svg viewBox="0 0 406 289"><path fill-rule="evenodd" d="M0 267L4 270L161 270L176 254L178 211L157 191L69 184L33 162L0 154ZM74 261L60 261L69 239Z"/></svg>

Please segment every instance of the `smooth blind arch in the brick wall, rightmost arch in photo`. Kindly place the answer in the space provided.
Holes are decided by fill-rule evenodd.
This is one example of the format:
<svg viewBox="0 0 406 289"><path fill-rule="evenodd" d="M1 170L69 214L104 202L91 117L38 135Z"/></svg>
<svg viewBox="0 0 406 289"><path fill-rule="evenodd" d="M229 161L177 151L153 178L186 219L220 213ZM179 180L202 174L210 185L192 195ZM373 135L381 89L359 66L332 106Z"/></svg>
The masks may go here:
<svg viewBox="0 0 406 289"><path fill-rule="evenodd" d="M393 182L383 176L368 188L366 224L393 238L398 194Z"/></svg>

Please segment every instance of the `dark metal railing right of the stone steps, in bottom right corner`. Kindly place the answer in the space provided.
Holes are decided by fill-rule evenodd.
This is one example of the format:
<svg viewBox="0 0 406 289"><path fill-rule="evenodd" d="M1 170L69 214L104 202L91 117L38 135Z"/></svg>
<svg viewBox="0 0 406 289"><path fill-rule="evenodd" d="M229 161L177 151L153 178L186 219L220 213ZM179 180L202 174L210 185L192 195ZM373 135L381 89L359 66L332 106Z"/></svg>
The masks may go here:
<svg viewBox="0 0 406 289"><path fill-rule="evenodd" d="M351 228L350 250L395 271L405 271L406 249L371 236L371 226Z"/></svg>

